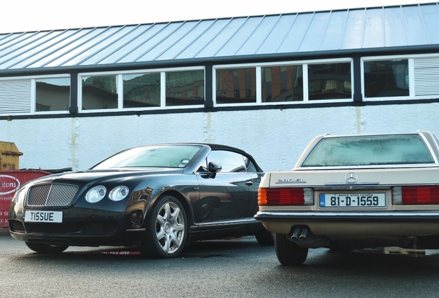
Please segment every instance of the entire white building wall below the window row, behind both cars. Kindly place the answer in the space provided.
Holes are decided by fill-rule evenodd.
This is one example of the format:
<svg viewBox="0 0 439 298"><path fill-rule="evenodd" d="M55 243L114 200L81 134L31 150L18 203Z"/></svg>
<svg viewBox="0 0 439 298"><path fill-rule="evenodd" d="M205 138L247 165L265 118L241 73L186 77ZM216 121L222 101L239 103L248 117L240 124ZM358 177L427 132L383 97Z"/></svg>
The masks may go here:
<svg viewBox="0 0 439 298"><path fill-rule="evenodd" d="M0 121L0 141L17 145L20 168L86 170L126 148L153 143L221 143L249 152L265 171L290 170L324 133L409 132L439 135L439 103L294 108L169 115Z"/></svg>

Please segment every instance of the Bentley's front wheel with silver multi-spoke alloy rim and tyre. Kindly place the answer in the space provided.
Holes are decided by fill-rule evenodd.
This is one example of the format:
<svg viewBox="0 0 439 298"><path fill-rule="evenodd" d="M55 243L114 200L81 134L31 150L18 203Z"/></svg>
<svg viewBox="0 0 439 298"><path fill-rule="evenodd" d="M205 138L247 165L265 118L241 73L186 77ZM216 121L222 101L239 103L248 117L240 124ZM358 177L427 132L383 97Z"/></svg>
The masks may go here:
<svg viewBox="0 0 439 298"><path fill-rule="evenodd" d="M177 257L188 237L188 221L182 203L175 197L159 197L146 218L146 232L139 248L142 255Z"/></svg>

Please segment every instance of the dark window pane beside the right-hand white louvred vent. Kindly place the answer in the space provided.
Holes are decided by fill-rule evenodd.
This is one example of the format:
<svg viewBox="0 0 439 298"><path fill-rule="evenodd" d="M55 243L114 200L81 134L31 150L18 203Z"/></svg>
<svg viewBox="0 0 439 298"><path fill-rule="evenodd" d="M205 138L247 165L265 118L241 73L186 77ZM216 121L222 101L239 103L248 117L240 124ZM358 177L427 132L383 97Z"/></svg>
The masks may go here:
<svg viewBox="0 0 439 298"><path fill-rule="evenodd" d="M408 59L364 61L364 97L409 96Z"/></svg>

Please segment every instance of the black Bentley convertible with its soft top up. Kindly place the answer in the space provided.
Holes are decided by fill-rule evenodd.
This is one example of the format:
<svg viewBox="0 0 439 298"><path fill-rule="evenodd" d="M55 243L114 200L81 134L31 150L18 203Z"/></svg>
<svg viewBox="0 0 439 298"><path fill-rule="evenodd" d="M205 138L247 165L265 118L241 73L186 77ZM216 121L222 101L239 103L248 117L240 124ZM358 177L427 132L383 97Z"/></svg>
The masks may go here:
<svg viewBox="0 0 439 298"><path fill-rule="evenodd" d="M15 193L9 228L35 252L69 246L136 247L175 257L191 241L255 235L262 170L228 146L173 143L131 148L90 170L32 180Z"/></svg>

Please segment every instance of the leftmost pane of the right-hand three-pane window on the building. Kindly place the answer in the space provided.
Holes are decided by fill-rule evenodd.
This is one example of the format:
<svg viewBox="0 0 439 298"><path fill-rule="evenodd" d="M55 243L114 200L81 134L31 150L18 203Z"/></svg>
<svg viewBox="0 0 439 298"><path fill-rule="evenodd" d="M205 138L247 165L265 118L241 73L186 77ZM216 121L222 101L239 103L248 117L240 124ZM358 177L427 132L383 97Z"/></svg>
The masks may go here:
<svg viewBox="0 0 439 298"><path fill-rule="evenodd" d="M216 70L217 103L255 103L256 68Z"/></svg>

